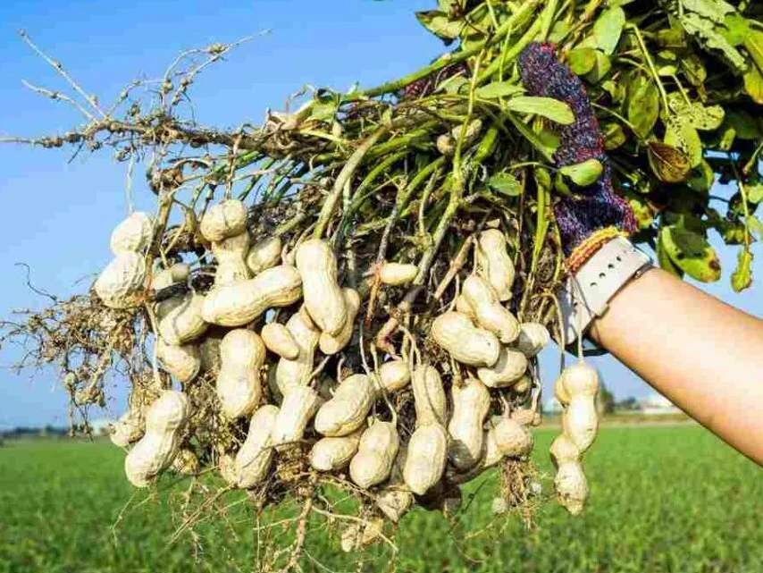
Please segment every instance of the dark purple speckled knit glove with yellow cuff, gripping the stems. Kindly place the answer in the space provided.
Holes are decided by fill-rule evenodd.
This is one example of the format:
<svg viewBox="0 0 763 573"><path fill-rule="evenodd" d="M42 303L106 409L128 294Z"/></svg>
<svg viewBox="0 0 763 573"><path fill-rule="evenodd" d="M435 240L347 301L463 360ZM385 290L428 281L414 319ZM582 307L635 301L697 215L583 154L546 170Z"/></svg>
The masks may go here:
<svg viewBox="0 0 763 573"><path fill-rule="evenodd" d="M572 273L615 236L636 230L631 206L612 188L612 173L599 122L583 82L559 63L551 44L532 43L519 55L519 72L532 96L553 97L573 111L574 122L559 125L561 142L554 154L557 167L597 159L604 169L599 180L587 187L573 186L574 197L562 196L554 205L562 248Z"/></svg>

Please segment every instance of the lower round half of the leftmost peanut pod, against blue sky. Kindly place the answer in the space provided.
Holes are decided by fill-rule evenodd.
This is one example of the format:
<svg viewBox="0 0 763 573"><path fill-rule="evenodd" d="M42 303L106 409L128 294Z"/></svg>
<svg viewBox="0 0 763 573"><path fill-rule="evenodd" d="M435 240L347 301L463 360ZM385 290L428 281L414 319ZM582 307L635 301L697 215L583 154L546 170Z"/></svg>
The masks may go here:
<svg viewBox="0 0 763 573"><path fill-rule="evenodd" d="M98 275L94 289L108 308L130 308L140 302L146 282L143 255L123 251Z"/></svg>

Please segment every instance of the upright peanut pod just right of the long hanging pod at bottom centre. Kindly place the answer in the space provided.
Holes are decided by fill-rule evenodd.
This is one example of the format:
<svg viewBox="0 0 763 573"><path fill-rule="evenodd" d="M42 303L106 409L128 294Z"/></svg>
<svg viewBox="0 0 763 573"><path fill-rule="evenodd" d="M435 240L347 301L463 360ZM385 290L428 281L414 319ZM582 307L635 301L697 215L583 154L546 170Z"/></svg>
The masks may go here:
<svg viewBox="0 0 763 573"><path fill-rule="evenodd" d="M453 384L453 415L448 423L448 455L460 470L473 468L482 457L482 425L490 409L490 392L476 378Z"/></svg>

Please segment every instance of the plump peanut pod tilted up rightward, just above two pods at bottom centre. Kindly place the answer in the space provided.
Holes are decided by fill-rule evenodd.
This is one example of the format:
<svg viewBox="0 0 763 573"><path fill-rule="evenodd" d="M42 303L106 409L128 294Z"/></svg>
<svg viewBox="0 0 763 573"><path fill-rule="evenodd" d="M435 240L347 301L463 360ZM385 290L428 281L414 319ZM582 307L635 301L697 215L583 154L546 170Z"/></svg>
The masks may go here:
<svg viewBox="0 0 763 573"><path fill-rule="evenodd" d="M365 423L375 398L372 378L365 374L348 376L340 383L334 397L318 410L315 431L328 436L354 432Z"/></svg>

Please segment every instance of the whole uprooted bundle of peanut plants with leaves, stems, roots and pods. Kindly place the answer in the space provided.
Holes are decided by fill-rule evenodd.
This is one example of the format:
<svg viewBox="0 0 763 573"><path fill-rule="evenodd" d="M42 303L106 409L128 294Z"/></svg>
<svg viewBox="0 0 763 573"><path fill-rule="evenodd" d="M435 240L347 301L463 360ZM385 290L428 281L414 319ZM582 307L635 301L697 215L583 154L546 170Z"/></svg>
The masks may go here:
<svg viewBox="0 0 763 573"><path fill-rule="evenodd" d="M85 123L5 140L111 149L130 173L145 166L156 206L114 222L113 260L87 293L21 312L3 340L25 345L21 367L58 368L86 430L106 381L130 384L112 440L138 488L191 476L179 532L231 489L257 515L294 504L291 536L257 522L267 567L298 568L325 527L346 551L394 551L407 511L452 516L489 468L507 515L529 515L537 354L563 342L559 198L611 185L663 268L717 281L714 231L739 246L734 289L752 280L758 5L440 0L416 16L449 46L434 62L376 88L306 91L235 130L183 104L238 43L184 53L106 108L22 35L71 89L29 87ZM596 116L584 133L575 101L523 81L518 62L541 44L583 80ZM561 164L580 137L606 156ZM730 191L713 195L717 182ZM598 387L582 356L556 386L554 487L574 514Z"/></svg>

